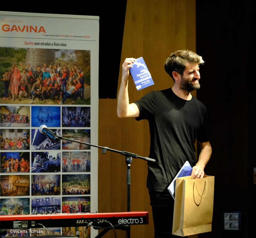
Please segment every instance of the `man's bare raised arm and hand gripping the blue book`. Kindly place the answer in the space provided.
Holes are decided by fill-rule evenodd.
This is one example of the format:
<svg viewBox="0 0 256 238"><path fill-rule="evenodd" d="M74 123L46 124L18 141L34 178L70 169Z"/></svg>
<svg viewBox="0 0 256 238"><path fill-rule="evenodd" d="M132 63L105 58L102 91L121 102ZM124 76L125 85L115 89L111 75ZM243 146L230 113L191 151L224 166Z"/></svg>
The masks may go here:
<svg viewBox="0 0 256 238"><path fill-rule="evenodd" d="M135 103L129 104L128 96L128 79L130 76L129 69L132 68L134 61L134 58L126 58L122 64L122 80L117 100L117 115L120 118L139 116L138 106Z"/></svg>

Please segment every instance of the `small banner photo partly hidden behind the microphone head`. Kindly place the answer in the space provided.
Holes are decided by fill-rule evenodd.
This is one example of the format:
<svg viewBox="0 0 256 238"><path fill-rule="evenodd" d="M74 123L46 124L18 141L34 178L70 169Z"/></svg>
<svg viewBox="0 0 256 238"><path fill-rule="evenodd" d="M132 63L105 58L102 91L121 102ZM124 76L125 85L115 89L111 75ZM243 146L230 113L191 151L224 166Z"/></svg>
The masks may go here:
<svg viewBox="0 0 256 238"><path fill-rule="evenodd" d="M52 130L56 135L60 135L60 129ZM31 129L31 149L32 150L60 150L60 141L52 142L39 129Z"/></svg>

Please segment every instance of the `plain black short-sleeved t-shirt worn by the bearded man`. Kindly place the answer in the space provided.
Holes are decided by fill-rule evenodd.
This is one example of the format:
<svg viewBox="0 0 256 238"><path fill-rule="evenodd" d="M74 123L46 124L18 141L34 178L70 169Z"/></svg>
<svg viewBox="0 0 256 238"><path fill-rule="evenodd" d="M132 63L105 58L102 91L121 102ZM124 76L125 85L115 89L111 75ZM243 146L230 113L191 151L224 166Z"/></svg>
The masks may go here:
<svg viewBox="0 0 256 238"><path fill-rule="evenodd" d="M206 107L192 96L184 100L171 88L150 92L134 102L140 112L136 120L147 119L150 129L150 154L147 187L163 191L188 160L196 164L196 139L209 141Z"/></svg>

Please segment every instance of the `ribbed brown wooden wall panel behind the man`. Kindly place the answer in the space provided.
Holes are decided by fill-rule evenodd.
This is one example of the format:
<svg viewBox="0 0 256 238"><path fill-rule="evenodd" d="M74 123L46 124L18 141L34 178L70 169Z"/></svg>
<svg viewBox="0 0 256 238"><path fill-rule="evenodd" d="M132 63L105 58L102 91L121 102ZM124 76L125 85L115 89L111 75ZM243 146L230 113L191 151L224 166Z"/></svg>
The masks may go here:
<svg viewBox="0 0 256 238"><path fill-rule="evenodd" d="M130 80L130 102L138 100L147 92L173 85L163 64L175 50L196 50L195 11L195 0L127 0L122 61L126 57L142 56L155 82L154 86L137 91ZM111 49L109 59L111 60ZM121 66L122 62L119 83ZM106 80L111 85L110 75L106 75ZM195 92L193 95L196 95ZM150 135L147 121L120 119L116 108L117 100L99 100L99 145L148 156ZM146 188L147 163L134 159L131 174L131 210L150 212L150 224L132 226L131 237L154 237ZM99 212L126 211L126 164L123 156L112 152L103 155L99 151L98 175ZM125 237L125 232L118 231L117 235ZM105 237L114 237L114 234L110 231Z"/></svg>

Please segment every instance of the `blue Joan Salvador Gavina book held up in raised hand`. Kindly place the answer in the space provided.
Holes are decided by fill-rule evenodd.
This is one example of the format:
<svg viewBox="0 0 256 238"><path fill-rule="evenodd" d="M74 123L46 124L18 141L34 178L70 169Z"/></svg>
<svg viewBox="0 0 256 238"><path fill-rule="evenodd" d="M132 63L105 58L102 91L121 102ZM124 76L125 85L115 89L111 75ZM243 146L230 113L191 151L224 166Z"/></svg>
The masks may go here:
<svg viewBox="0 0 256 238"><path fill-rule="evenodd" d="M133 68L130 68L130 73L137 90L154 85L151 74L148 71L147 65L142 57L136 59L132 66Z"/></svg>

